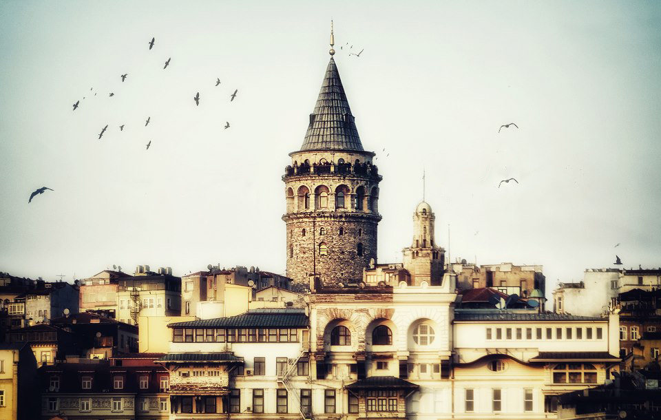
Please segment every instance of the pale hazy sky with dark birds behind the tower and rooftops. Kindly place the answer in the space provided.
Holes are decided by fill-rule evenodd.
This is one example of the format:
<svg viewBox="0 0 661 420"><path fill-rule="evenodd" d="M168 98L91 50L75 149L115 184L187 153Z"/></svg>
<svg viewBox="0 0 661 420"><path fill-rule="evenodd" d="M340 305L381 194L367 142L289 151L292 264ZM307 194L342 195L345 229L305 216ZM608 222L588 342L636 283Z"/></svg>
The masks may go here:
<svg viewBox="0 0 661 420"><path fill-rule="evenodd" d="M616 254L661 266L661 3L0 0L0 271L284 273L281 176L331 18L384 177L379 262L410 245L424 168L452 260L543 264L548 297Z"/></svg>

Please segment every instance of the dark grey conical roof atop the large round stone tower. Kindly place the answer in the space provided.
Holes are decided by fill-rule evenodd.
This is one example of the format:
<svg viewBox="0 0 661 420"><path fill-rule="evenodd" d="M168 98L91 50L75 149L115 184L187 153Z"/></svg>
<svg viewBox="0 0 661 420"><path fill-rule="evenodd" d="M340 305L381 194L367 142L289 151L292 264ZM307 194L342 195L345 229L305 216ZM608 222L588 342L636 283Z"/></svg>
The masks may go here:
<svg viewBox="0 0 661 420"><path fill-rule="evenodd" d="M363 150L333 57L326 67L322 90L301 146L301 151L329 149Z"/></svg>

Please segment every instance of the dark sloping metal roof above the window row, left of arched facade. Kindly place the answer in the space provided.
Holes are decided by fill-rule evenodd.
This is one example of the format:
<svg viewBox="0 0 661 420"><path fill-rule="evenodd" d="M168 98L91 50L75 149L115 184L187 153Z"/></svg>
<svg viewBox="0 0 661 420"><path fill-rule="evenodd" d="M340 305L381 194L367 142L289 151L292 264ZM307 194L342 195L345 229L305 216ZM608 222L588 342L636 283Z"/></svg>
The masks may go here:
<svg viewBox="0 0 661 420"><path fill-rule="evenodd" d="M308 317L300 311L287 310L249 312L233 317L198 319L196 321L173 322L171 328L302 328L309 325Z"/></svg>

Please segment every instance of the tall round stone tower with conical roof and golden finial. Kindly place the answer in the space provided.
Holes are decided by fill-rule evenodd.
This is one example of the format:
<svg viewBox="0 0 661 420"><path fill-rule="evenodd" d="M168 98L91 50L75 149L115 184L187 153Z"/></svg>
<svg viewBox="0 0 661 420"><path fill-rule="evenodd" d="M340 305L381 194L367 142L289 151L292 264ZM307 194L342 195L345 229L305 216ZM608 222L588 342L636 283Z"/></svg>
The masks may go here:
<svg viewBox="0 0 661 420"><path fill-rule="evenodd" d="M333 60L303 145L289 154L285 183L287 275L297 284L356 282L377 259L381 176L358 136L355 116Z"/></svg>

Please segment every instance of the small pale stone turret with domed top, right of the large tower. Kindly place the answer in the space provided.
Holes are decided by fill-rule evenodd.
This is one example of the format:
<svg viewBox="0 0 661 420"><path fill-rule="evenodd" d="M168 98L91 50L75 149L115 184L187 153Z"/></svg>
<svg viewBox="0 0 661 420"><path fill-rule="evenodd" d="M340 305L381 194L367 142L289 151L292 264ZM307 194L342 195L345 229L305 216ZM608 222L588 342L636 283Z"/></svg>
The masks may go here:
<svg viewBox="0 0 661 420"><path fill-rule="evenodd" d="M403 249L403 266L411 275L411 286L427 282L440 286L443 280L445 249L434 241L434 212L425 201L421 201L413 213L413 242Z"/></svg>

